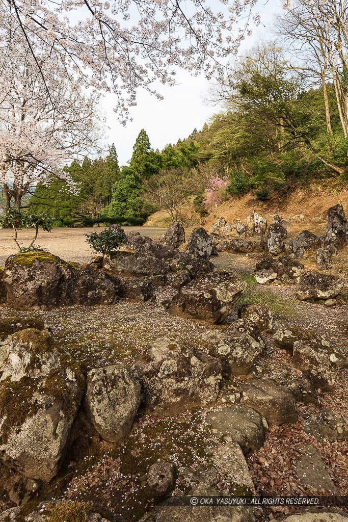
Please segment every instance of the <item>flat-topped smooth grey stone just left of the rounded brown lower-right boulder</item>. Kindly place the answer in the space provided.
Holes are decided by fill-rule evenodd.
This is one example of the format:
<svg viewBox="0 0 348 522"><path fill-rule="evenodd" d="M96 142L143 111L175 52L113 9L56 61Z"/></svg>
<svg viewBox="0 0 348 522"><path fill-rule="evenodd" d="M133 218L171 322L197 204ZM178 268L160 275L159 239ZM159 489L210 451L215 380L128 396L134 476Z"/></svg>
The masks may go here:
<svg viewBox="0 0 348 522"><path fill-rule="evenodd" d="M265 441L262 418L255 410L244 405L224 406L218 411L211 411L206 422L210 424L214 435L237 442L244 455L260 449Z"/></svg>

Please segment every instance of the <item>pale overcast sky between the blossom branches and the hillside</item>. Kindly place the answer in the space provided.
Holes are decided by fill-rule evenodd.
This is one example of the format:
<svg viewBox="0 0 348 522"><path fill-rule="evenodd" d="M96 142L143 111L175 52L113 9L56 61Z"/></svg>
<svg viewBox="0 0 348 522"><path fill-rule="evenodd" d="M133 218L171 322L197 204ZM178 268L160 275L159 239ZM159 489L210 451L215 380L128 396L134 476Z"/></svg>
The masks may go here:
<svg viewBox="0 0 348 522"><path fill-rule="evenodd" d="M280 0L259 2L257 12L260 13L261 21L266 28L259 28L247 37L242 50L252 46L260 34L263 38L267 37L274 15L279 12L279 6ZM158 87L164 96L163 100L140 90L137 105L130 111L133 121L128 122L126 127L118 123L117 115L113 112L114 96L108 94L102 100L106 125L109 127L106 129L106 142L115 144L120 165L130 160L133 145L142 128L149 135L151 147L161 150L165 145L187 137L195 127L199 131L210 116L219 112L219 108L209 106L205 102L209 84L204 76L193 77L183 70L178 70L177 81L178 85L174 87Z"/></svg>

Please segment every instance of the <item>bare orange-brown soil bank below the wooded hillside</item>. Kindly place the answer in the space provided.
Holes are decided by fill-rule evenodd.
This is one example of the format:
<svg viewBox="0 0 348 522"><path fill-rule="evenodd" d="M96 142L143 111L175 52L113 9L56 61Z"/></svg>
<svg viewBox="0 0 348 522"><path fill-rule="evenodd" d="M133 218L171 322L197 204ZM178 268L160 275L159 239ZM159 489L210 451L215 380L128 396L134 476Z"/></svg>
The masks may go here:
<svg viewBox="0 0 348 522"><path fill-rule="evenodd" d="M245 221L254 209L270 222L272 222L270 215L276 213L281 214L284 219L303 214L305 218L317 218L318 220L321 218L325 221L328 208L338 203L341 203L345 212L348 213L348 186L341 191L312 186L306 190L289 191L267 201L260 201L254 193L248 193L243 197L234 197L224 201L212 210L204 225L209 229L220 216L225 218L227 223L231 223L234 219Z"/></svg>

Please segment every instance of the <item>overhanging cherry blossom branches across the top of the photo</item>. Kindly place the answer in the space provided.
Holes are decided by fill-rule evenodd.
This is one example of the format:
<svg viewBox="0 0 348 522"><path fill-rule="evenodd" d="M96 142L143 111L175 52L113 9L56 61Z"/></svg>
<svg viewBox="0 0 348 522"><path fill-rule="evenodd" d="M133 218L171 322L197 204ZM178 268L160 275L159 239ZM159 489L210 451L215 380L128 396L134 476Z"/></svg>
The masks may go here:
<svg viewBox="0 0 348 522"><path fill-rule="evenodd" d="M1 0L0 41L6 56L20 43L31 53L44 84L40 48L65 69L66 77L98 91L113 90L121 121L139 87L160 97L155 81L174 84L182 67L209 78L238 49L257 0ZM243 16L244 15L244 16ZM236 27L236 21L242 19ZM234 31L234 32L233 32Z"/></svg>

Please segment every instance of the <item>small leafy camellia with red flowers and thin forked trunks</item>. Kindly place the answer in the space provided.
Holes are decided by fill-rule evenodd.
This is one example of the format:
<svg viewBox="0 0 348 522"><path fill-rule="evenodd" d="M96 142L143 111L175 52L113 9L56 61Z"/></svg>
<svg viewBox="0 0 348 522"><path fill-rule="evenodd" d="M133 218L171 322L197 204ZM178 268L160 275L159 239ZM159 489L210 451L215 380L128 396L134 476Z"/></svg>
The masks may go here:
<svg viewBox="0 0 348 522"><path fill-rule="evenodd" d="M14 241L19 251L30 250L37 240L39 227L45 232L52 230L52 218L47 214L24 214L15 208L8 208L2 216L0 216L0 226L2 228L12 227L14 230ZM35 235L29 247L22 247L17 241L18 230L22 228L35 229Z"/></svg>

